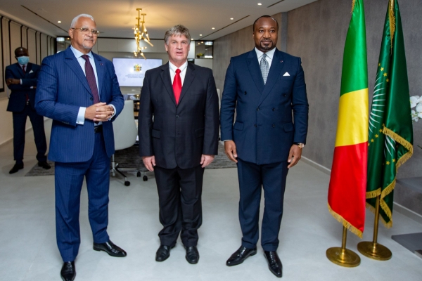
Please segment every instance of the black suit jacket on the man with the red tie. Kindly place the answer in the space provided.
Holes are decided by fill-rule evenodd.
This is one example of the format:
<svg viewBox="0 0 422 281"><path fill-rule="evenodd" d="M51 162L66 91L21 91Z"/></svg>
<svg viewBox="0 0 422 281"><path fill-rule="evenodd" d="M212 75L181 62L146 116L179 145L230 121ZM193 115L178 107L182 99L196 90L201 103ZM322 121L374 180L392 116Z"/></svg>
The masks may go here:
<svg viewBox="0 0 422 281"><path fill-rule="evenodd" d="M148 70L138 117L139 152L165 169L193 168L201 155L217 155L219 110L212 70L188 63L179 104L169 64Z"/></svg>

